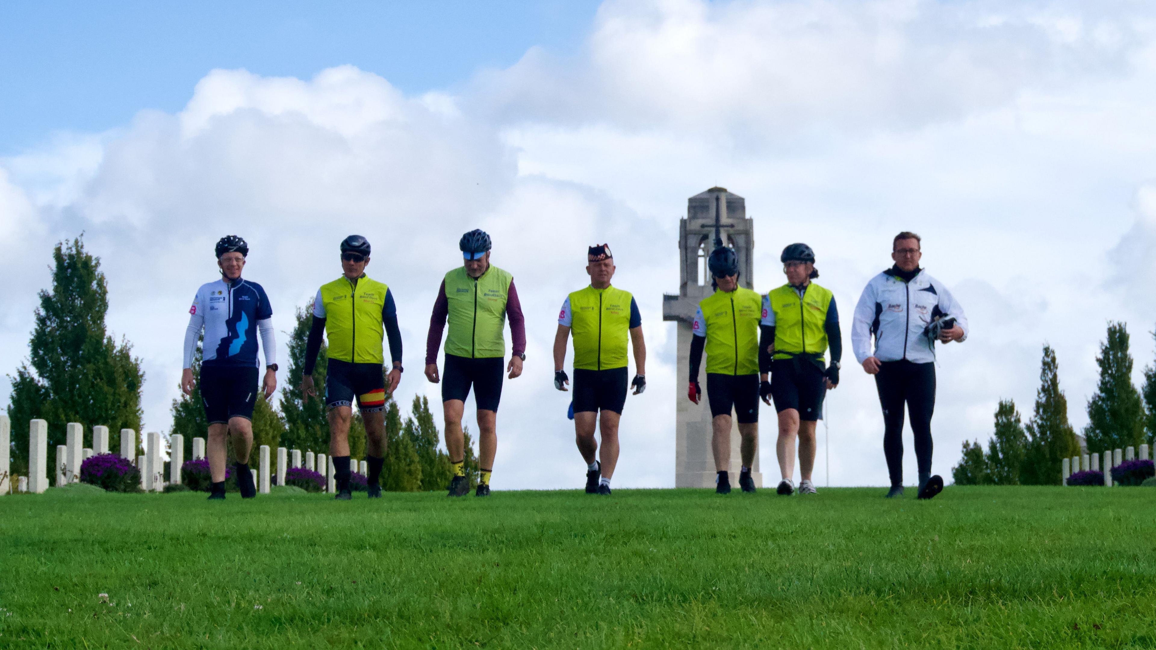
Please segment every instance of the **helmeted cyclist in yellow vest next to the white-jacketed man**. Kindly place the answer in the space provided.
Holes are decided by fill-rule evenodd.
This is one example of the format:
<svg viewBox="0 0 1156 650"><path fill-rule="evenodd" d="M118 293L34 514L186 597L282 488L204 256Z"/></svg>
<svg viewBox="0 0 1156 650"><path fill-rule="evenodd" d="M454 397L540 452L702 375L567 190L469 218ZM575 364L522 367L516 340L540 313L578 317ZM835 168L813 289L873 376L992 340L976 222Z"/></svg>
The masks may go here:
<svg viewBox="0 0 1156 650"><path fill-rule="evenodd" d="M763 297L759 368L759 397L779 413L779 438L776 452L783 481L778 493L794 493L795 441L799 443L799 494L815 494L810 480L815 467L815 424L822 419L827 391L839 384L839 359L843 338L835 296L812 282L815 252L807 244L791 244L780 257L787 283ZM831 349L831 364L823 354ZM771 381L766 382L766 374Z"/></svg>

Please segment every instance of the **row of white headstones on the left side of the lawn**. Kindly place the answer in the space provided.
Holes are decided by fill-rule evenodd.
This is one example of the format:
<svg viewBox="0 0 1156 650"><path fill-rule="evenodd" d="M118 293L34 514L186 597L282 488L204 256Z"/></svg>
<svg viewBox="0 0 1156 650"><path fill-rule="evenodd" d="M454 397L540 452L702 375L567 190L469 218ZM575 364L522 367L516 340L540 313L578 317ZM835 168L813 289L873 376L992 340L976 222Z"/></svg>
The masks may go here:
<svg viewBox="0 0 1156 650"><path fill-rule="evenodd" d="M9 474L10 468L10 442L12 423L7 415L0 415L0 495L12 492L13 486ZM49 446L49 423L45 420L32 420L29 422L28 441L28 477L20 477L16 492L43 493L49 488L47 477L47 446ZM161 434L149 431L146 453L135 457L135 466L141 473L141 489L146 492L162 492L168 485L180 483L180 468L185 464L185 438L180 434L170 437L171 458L169 461L169 480L164 480L164 459L161 457ZM136 451L136 431L133 429L120 429L120 456L134 460ZM66 428L65 444L57 446L55 485L57 487L68 483L80 482L80 466L87 458L98 453L109 453L109 428L103 426L92 427L92 446L84 446L84 428L71 422ZM193 459L205 458L205 438L193 438ZM290 465L291 463L291 465ZM306 451L304 455L299 450L288 450L277 448L277 485L286 485L286 474L290 467L305 467L316 472L321 467L321 474L326 477L326 492L336 490L336 473L333 460L324 453L314 455ZM368 471L366 463L361 461L358 468L362 474ZM258 486L258 492L267 494L269 492L269 445L262 444L258 450L258 467L253 472L253 482Z"/></svg>

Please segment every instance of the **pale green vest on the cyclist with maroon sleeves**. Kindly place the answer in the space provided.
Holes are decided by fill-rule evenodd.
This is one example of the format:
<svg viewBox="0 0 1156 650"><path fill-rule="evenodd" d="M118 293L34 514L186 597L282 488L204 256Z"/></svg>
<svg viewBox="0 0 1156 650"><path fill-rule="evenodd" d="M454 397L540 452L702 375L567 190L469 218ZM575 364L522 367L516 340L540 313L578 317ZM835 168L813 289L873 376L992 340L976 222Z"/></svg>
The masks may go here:
<svg viewBox="0 0 1156 650"><path fill-rule="evenodd" d="M490 266L474 279L464 266L445 274L450 335L445 353L470 359L505 356L505 304L513 275Z"/></svg>

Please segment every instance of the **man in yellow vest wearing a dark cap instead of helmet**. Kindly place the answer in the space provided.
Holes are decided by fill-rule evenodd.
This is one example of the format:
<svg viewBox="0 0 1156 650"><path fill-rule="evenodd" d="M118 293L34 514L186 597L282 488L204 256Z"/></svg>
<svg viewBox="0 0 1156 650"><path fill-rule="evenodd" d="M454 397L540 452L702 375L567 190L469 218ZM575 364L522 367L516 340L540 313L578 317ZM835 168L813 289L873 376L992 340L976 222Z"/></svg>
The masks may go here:
<svg viewBox="0 0 1156 650"><path fill-rule="evenodd" d="M566 339L575 339L575 433L586 461L586 494L610 494L610 477L618 463L618 419L627 401L627 332L635 353L635 394L646 390L646 344L638 305L628 291L610 286L614 257L610 246L591 246L586 256L590 286L562 303L554 337L554 387L565 391L570 378L562 369ZM601 413L601 419L599 418ZM602 431L601 461L594 426Z"/></svg>

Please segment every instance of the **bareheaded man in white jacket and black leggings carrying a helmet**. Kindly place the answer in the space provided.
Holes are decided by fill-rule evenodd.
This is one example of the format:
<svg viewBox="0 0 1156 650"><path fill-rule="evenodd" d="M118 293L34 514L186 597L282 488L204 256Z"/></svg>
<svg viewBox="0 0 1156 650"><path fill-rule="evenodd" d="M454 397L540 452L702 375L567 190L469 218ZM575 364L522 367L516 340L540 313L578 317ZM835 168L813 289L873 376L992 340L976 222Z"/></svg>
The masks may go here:
<svg viewBox="0 0 1156 650"><path fill-rule="evenodd" d="M851 326L855 359L875 376L883 407L883 453L891 478L888 498L903 495L904 404L916 440L918 498L931 498L943 489L943 479L931 473L935 340L948 344L968 338L963 308L947 287L919 267L921 257L919 235L896 235L891 252L895 266L867 283Z"/></svg>

